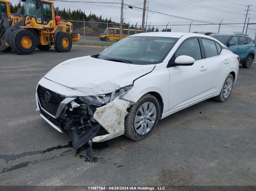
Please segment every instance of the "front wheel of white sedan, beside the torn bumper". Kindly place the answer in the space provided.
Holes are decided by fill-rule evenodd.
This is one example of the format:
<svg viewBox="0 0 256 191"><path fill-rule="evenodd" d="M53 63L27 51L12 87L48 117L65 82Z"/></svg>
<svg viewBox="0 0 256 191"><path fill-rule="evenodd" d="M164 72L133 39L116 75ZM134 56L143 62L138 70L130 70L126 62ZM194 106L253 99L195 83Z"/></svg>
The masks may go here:
<svg viewBox="0 0 256 191"><path fill-rule="evenodd" d="M129 113L126 116L125 136L132 140L140 141L151 135L158 122L159 108L159 103L156 97L151 94L143 95L131 106ZM145 125L146 128L144 128Z"/></svg>

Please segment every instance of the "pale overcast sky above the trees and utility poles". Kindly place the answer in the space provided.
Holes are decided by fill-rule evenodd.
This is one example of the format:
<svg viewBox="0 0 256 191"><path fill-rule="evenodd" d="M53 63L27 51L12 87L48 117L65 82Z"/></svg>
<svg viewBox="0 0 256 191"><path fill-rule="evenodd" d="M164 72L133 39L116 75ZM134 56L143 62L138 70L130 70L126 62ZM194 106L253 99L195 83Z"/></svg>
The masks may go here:
<svg viewBox="0 0 256 191"><path fill-rule="evenodd" d="M9 0L12 4L17 4L17 0ZM121 3L121 0L72 0L79 2L91 2L91 3L72 3L72 2L55 2L55 7L60 9L70 8L79 9L85 11L85 14L89 14L90 11L96 15L102 15L103 18L111 18L113 21L120 22L121 5L115 3ZM94 3L93 3L94 2ZM107 3L95 3L95 2L114 2L113 4ZM134 5L143 8L143 0L124 0L125 4ZM93 5L89 5L93 4ZM158 4L158 5L157 5ZM159 13L152 12L157 11L160 13L175 15L183 18L189 18L200 21L208 21L213 23L219 23L224 19L223 23L244 22L245 14L247 10L246 5L252 5L250 7L248 17L251 21L256 21L256 0L149 0L148 11L148 24L170 24L175 23L190 23L191 21L173 18L170 16L159 15ZM128 6L124 6L124 18L125 22L135 24L138 22L141 24L142 10Z"/></svg>

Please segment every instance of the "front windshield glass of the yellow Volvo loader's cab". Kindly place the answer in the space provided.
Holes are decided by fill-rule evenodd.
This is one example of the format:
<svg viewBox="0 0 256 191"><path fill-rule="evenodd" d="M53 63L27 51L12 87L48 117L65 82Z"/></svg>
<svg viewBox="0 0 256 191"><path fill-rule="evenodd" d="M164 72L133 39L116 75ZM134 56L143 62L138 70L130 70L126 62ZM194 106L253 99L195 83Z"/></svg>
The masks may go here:
<svg viewBox="0 0 256 191"><path fill-rule="evenodd" d="M38 21L41 21L41 8L36 8L35 0L24 1L23 7L24 16L34 17L35 19L38 19Z"/></svg>

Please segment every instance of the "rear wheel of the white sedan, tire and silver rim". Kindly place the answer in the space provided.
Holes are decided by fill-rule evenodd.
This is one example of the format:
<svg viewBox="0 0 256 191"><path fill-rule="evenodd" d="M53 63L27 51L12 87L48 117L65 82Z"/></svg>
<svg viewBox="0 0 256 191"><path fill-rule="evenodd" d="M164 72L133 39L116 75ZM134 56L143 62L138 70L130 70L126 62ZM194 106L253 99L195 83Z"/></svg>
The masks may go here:
<svg viewBox="0 0 256 191"><path fill-rule="evenodd" d="M225 79L224 84L221 88L221 93L218 96L213 97L213 99L221 102L227 101L229 96L231 95L233 85L234 85L234 78L231 74L229 74Z"/></svg>

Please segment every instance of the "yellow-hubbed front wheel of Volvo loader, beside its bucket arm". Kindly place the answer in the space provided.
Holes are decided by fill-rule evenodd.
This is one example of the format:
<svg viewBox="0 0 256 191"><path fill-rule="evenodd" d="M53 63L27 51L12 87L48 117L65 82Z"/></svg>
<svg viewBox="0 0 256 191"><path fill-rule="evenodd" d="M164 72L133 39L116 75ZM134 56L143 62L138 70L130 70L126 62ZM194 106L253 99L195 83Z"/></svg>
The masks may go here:
<svg viewBox="0 0 256 191"><path fill-rule="evenodd" d="M10 36L12 49L22 55L32 54L36 48L35 35L27 29L18 29Z"/></svg>

